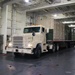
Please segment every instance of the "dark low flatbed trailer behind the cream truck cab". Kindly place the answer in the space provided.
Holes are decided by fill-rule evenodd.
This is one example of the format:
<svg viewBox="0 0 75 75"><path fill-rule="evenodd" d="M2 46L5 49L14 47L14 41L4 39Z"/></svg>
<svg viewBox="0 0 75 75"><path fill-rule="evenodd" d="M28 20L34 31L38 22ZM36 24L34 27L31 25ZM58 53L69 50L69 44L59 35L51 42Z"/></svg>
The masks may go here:
<svg viewBox="0 0 75 75"><path fill-rule="evenodd" d="M47 40L48 45L52 45L54 51L58 51L63 48L72 48L75 45L73 40Z"/></svg>

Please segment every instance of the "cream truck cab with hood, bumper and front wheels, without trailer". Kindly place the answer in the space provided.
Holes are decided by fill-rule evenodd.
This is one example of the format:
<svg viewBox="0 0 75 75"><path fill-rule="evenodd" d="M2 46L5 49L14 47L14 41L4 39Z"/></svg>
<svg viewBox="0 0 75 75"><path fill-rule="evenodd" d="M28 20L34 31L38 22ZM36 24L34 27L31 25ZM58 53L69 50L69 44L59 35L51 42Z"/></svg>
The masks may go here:
<svg viewBox="0 0 75 75"><path fill-rule="evenodd" d="M9 43L6 51L14 52L15 56L19 53L26 53L34 54L35 57L40 57L42 52L48 51L46 49L46 29L42 25L25 27L23 35L14 35L11 43Z"/></svg>

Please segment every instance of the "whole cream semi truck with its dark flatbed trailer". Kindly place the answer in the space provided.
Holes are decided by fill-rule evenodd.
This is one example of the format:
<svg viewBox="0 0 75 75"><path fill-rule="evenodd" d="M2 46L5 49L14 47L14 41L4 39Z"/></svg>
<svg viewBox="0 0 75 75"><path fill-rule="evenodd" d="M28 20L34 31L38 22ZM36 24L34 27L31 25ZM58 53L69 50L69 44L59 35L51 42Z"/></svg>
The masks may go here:
<svg viewBox="0 0 75 75"><path fill-rule="evenodd" d="M56 52L61 48L74 47L75 41L72 40L50 40L50 29L42 25L27 26L21 35L13 35L9 42L7 52L18 54L33 54L40 57L44 52Z"/></svg>

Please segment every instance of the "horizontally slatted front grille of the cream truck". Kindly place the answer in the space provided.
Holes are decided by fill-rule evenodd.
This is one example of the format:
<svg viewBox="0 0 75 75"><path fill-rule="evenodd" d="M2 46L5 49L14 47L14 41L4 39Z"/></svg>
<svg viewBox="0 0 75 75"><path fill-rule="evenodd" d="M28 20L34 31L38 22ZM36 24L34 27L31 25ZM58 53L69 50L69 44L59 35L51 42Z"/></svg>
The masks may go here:
<svg viewBox="0 0 75 75"><path fill-rule="evenodd" d="M23 48L23 37L22 36L13 37L13 47Z"/></svg>

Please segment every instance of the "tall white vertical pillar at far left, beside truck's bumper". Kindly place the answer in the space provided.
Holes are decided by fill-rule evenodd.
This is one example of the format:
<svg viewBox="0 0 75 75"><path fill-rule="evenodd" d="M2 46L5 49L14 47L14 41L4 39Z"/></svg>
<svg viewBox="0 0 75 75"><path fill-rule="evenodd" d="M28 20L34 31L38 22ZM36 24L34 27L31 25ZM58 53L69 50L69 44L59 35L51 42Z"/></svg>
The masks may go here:
<svg viewBox="0 0 75 75"><path fill-rule="evenodd" d="M3 35L3 53L4 54L6 54L5 46L7 41L7 17L8 17L8 5L2 8L1 34Z"/></svg>

